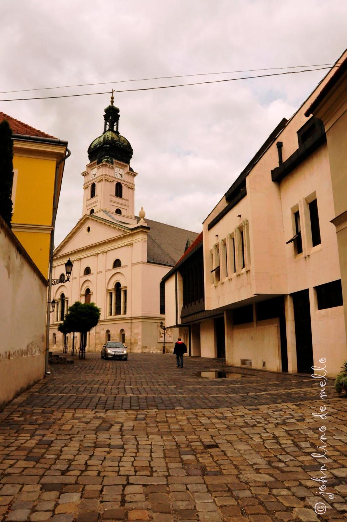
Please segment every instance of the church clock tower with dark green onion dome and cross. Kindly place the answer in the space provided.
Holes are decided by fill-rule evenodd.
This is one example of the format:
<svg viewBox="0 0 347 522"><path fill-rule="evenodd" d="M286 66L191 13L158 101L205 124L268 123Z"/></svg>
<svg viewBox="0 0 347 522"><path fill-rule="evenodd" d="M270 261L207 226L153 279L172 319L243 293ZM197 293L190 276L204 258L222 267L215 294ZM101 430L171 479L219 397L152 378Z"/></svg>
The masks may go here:
<svg viewBox="0 0 347 522"><path fill-rule="evenodd" d="M117 219L136 224L134 192L136 172L130 167L133 149L119 134L119 109L111 104L105 109L103 133L88 147L89 163L84 176L83 215Z"/></svg>

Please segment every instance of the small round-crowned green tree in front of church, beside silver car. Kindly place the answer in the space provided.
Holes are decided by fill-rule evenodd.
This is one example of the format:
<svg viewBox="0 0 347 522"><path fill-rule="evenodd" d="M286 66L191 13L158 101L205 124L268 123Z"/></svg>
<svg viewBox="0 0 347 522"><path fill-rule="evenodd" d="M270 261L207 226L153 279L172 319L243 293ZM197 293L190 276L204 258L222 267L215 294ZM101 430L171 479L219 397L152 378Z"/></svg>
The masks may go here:
<svg viewBox="0 0 347 522"><path fill-rule="evenodd" d="M100 309L95 303L80 303L76 301L68 308L64 323L68 331L80 332L80 351L82 352L82 357L85 357L87 332L98 324L100 313Z"/></svg>

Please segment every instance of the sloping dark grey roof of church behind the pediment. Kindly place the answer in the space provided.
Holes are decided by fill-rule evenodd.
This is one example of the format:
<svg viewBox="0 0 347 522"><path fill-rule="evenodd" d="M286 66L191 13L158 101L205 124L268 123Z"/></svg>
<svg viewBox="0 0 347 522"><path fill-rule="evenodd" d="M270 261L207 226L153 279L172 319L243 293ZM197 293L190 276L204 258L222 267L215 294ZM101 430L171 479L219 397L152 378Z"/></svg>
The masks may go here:
<svg viewBox="0 0 347 522"><path fill-rule="evenodd" d="M116 219L107 210L103 210L103 213L106 214L109 221L118 223L122 227L126 227L128 224ZM135 216L135 218L137 221L140 221L138 216ZM150 229L147 235L147 261L149 263L159 263L168 266L175 265L184 253L188 236L191 241L194 241L199 235L198 232L180 229L166 223L152 221L151 219L145 219L145 222ZM129 230L131 230L131 227L129 227Z"/></svg>

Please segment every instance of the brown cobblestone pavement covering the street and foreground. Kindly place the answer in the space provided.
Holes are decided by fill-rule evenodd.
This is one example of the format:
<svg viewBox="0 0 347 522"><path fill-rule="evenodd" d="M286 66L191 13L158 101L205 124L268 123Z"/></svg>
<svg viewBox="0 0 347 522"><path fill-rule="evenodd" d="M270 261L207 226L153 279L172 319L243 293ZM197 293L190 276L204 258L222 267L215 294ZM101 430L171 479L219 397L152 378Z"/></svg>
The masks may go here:
<svg viewBox="0 0 347 522"><path fill-rule="evenodd" d="M184 365L87 354L53 366L0 413L0 521L346 519L347 403L331 381L322 420L317 379L228 369L211 380L195 374L225 371L220 360ZM311 455L322 425L327 460ZM330 500L312 480L323 464Z"/></svg>

